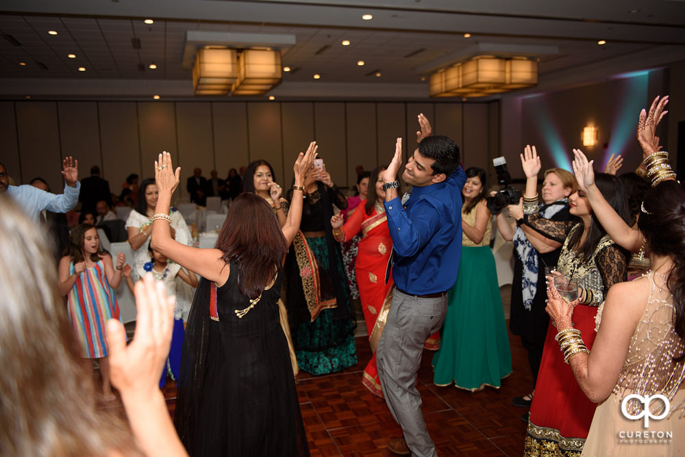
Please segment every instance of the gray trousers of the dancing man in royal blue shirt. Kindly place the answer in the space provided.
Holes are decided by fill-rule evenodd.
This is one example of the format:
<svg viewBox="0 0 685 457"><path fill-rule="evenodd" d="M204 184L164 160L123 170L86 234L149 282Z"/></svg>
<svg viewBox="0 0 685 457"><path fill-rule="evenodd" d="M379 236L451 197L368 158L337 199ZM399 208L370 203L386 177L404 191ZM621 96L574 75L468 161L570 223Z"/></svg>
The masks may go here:
<svg viewBox="0 0 685 457"><path fill-rule="evenodd" d="M421 413L416 374L423 343L443 325L447 294L416 298L395 288L388 321L376 349L378 377L390 413L399 423L412 456L436 456L435 445Z"/></svg>

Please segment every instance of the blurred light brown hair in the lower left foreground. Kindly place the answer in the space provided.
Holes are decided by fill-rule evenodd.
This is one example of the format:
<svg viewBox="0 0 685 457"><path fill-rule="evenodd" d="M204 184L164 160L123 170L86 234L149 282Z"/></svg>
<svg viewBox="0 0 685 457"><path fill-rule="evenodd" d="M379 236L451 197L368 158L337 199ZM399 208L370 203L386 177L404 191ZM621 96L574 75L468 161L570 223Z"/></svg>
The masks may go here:
<svg viewBox="0 0 685 457"><path fill-rule="evenodd" d="M0 196L0 455L137 455L132 434L97 408L47 237Z"/></svg>

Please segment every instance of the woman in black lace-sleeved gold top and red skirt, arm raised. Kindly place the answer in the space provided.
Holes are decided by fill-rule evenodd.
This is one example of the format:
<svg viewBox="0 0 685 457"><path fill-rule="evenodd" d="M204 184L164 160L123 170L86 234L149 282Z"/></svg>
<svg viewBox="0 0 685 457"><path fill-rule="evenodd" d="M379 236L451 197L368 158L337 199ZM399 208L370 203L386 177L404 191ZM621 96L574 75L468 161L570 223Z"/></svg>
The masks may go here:
<svg viewBox="0 0 685 457"><path fill-rule="evenodd" d="M597 306L603 302L609 287L626 280L627 253L614 244L597 222L582 191L569 196L569 212L581 222L541 218L536 194L537 174L541 167L534 146L525 147L521 163L527 179L523 195L523 223L563 244L555 274L563 275L567 283L573 283L570 279L577 282L577 291L569 291L569 298L577 294L580 302L575 307L573 322L584 337L587 335L585 343L591 348ZM627 200L619 179L598 173L596 183L614 211L623 220L628 220ZM556 333L550 322L530 408L526 456L543 454L545 449L545 452L553 449L552 455L580 454L595 413L596 405L574 383L573 372L559 353L558 343L554 340Z"/></svg>

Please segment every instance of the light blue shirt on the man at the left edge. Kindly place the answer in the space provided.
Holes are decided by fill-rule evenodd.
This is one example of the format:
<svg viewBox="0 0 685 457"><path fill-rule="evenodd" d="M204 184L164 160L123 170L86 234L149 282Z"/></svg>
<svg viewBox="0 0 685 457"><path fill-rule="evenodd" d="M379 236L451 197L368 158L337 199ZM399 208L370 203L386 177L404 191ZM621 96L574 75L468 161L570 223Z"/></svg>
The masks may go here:
<svg viewBox="0 0 685 457"><path fill-rule="evenodd" d="M67 213L76 206L81 192L81 183L76 181L76 187L64 185L64 193L60 195L45 192L32 185L9 185L8 195L27 215L38 222L40 211L47 209L53 213Z"/></svg>

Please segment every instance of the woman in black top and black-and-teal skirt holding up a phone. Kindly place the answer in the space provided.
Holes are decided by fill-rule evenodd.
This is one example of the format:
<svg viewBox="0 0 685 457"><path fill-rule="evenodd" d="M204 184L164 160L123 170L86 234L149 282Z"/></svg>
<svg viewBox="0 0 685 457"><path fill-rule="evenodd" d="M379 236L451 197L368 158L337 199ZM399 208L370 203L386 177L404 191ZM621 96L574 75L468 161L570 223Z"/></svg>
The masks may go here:
<svg viewBox="0 0 685 457"><path fill-rule="evenodd" d="M333 205L345 209L347 200L325 166L307 172L304 192L301 232L288 254L292 274L286 306L297 365L311 374L328 374L357 363L356 323L330 224ZM288 191L288 198L293 195Z"/></svg>

